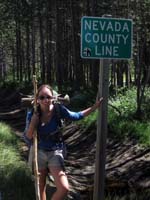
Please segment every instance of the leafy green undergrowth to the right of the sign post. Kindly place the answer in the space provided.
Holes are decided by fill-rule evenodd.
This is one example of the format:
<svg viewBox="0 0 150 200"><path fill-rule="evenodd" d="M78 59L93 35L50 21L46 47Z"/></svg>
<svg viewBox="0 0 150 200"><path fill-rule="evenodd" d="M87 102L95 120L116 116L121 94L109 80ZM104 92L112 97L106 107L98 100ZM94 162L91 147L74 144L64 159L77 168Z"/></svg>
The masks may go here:
<svg viewBox="0 0 150 200"><path fill-rule="evenodd" d="M134 137L144 146L150 146L150 91L145 92L142 117L136 115L136 90L132 88L109 100L108 123L111 136L124 139Z"/></svg>

